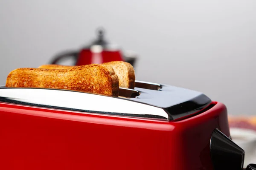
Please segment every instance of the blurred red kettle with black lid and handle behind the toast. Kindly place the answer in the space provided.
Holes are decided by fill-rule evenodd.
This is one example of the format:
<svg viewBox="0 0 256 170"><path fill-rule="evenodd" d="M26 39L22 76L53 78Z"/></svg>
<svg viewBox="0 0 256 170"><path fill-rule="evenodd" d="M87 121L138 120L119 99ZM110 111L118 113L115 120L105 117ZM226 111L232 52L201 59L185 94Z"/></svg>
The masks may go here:
<svg viewBox="0 0 256 170"><path fill-rule="evenodd" d="M79 51L66 51L53 57L51 64L60 64L61 60L72 58L73 65L101 64L111 61L125 61L134 66L136 56L134 54L124 54L119 45L108 43L105 38L103 28L96 30L98 38L80 49Z"/></svg>

